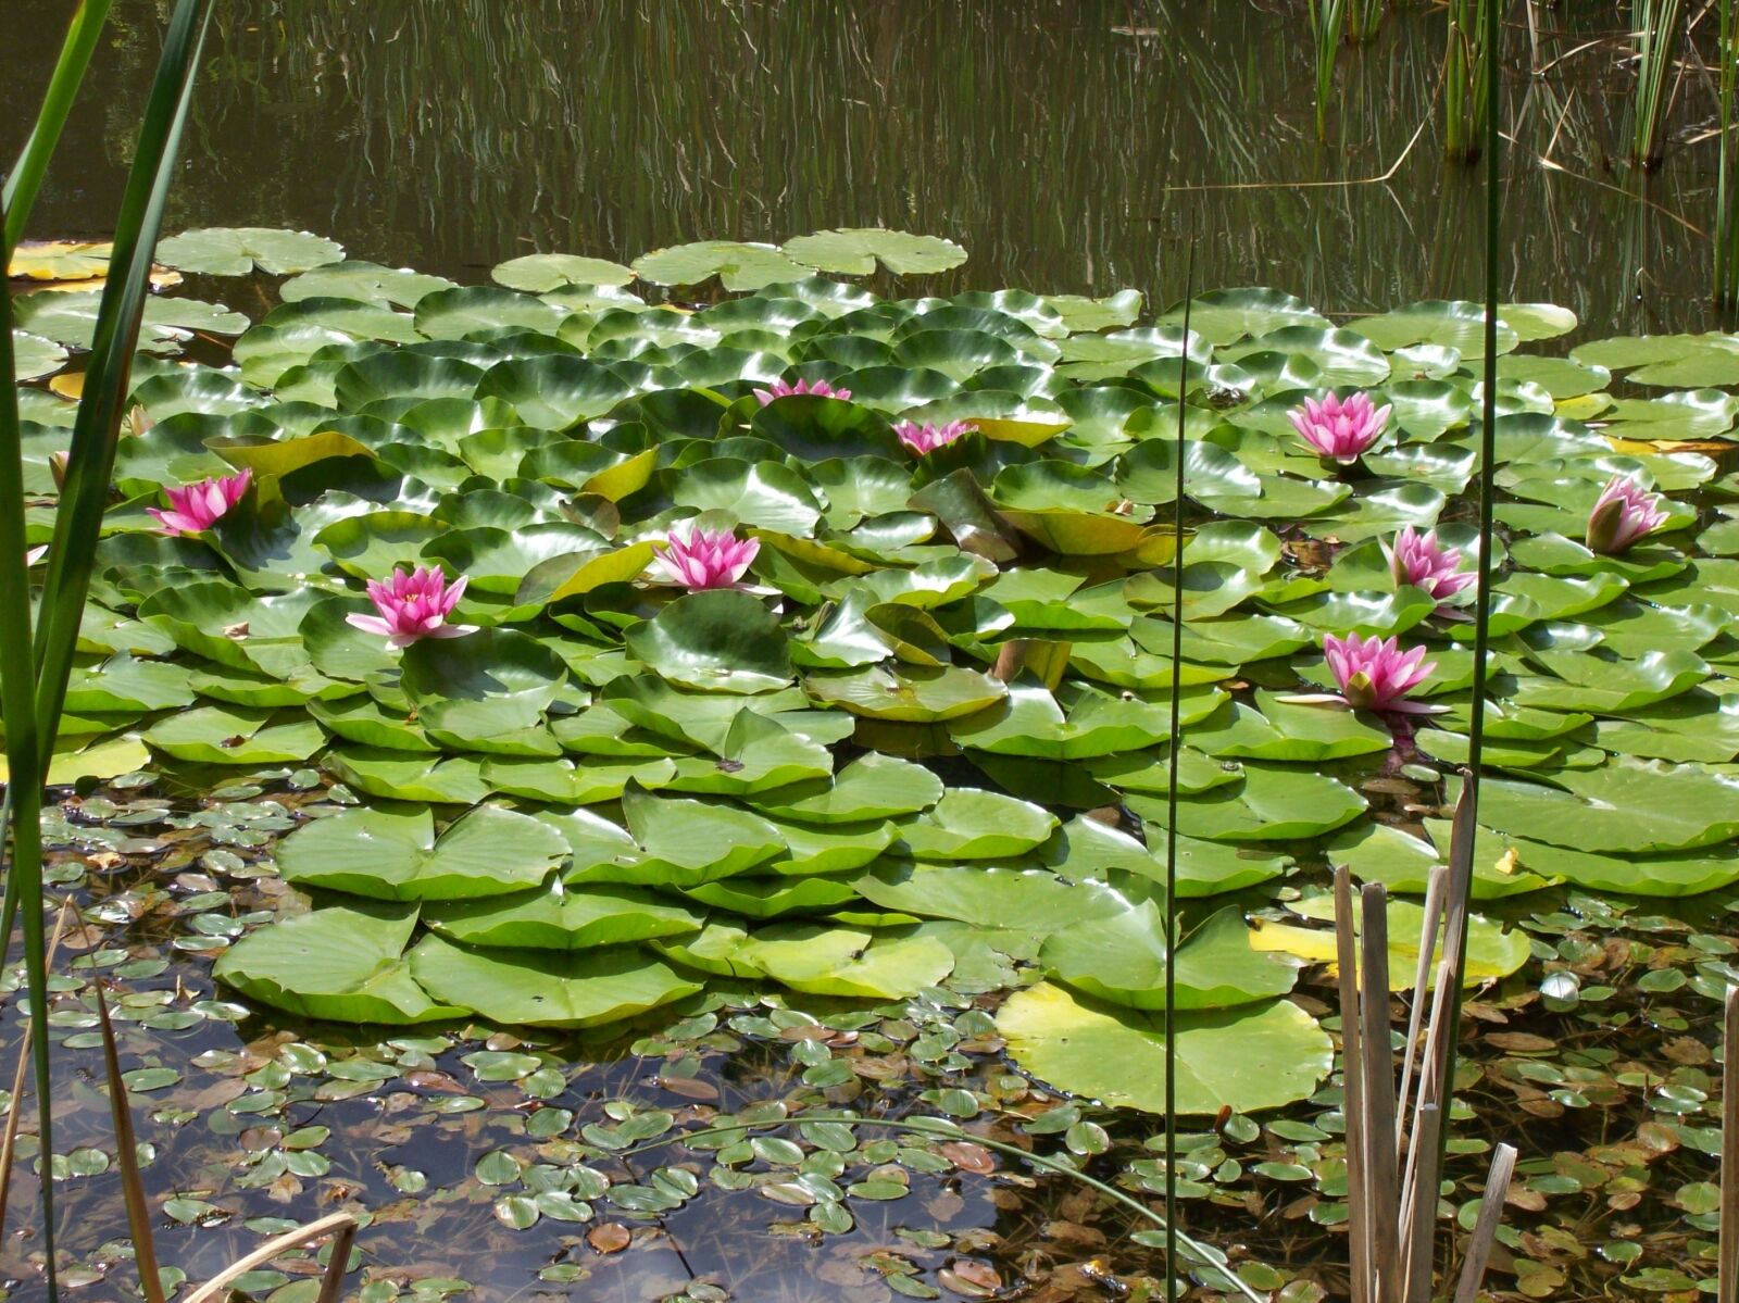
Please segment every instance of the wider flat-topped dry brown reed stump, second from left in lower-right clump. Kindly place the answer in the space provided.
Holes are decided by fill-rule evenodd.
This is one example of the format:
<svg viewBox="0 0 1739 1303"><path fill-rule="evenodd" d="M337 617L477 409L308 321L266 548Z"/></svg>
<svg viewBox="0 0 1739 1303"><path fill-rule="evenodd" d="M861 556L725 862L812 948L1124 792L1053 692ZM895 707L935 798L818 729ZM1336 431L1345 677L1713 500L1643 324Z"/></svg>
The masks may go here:
<svg viewBox="0 0 1739 1303"><path fill-rule="evenodd" d="M1360 1028L1365 1068L1365 1192L1370 1221L1370 1303L1402 1303L1400 1190L1395 1181L1395 1054L1389 1044L1389 894L1360 892Z"/></svg>

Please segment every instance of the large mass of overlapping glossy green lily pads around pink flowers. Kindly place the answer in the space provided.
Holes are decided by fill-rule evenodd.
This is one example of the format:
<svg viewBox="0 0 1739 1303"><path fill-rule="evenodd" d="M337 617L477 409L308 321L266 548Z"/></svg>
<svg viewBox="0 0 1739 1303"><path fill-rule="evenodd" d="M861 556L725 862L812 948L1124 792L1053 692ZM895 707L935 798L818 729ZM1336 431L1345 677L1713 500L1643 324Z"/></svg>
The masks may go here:
<svg viewBox="0 0 1739 1303"><path fill-rule="evenodd" d="M1478 308L1334 325L1216 291L1186 334L1181 306L1137 325L1129 292L894 299L810 273L956 254L831 231L631 268L541 254L461 287L297 233L165 242L170 266L271 277L278 306L155 304L146 348L233 350L139 358L61 776L316 764L365 797L283 842L311 908L219 964L292 1012L593 1026L713 978L1023 988L1002 1012L1023 1063L1153 1106L1174 964L1181 1103L1309 1094L1329 1040L1285 995L1322 912L1306 898L1252 945L1212 898L1325 861L1419 891L1442 859L1442 807L1372 812L1362 778L1435 783L1466 755L1471 625L1396 585L1383 546L1414 525L1476 551ZM704 303L630 289L713 275ZM52 346L19 350L31 543L52 532L77 376L50 372L87 341L78 297L19 306ZM1499 774L1476 891L1708 891L1739 880L1739 482L1718 442L1739 398L1614 395L1636 357L1643 384L1715 365L1701 337L1520 351L1572 327L1509 304L1499 331ZM1299 442L1292 409L1355 393L1391 409L1376 447L1341 464ZM209 529L151 515L242 471ZM1579 539L1614 475L1671 501L1603 555ZM737 586L654 567L694 529L756 543ZM443 631L470 631L395 647L358 628L365 585L416 567L464 581ZM1445 713L1414 732L1299 699L1346 633L1428 645L1416 696ZM1167 938L1174 685L1189 908ZM1525 957L1487 939L1485 976Z"/></svg>

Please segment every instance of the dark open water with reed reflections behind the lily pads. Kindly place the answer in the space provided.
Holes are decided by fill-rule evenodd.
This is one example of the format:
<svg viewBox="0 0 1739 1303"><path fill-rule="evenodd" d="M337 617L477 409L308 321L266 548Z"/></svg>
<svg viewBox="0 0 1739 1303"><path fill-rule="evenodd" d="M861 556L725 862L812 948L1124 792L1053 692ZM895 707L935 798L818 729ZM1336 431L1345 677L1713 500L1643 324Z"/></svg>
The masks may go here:
<svg viewBox="0 0 1739 1303"><path fill-rule="evenodd" d="M0 157L66 9L7 3ZM117 0L35 235L106 231L162 9ZM1704 329L1711 78L1687 70L1643 176L1622 162L1629 7L1534 5L1532 30L1515 10L1504 296L1600 334ZM1330 311L1478 297L1480 169L1442 162L1443 30L1407 3L1343 52L1318 146L1304 0L233 0L169 228L303 226L475 282L532 251L887 224L962 242L951 289L1163 301L1195 231L1207 287Z"/></svg>

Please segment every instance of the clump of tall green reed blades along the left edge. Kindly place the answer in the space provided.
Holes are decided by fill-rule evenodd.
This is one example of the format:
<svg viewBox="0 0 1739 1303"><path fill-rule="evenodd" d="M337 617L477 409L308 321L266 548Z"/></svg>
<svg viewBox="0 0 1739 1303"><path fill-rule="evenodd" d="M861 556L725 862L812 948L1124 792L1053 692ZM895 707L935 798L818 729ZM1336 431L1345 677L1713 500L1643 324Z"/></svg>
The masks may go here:
<svg viewBox="0 0 1739 1303"><path fill-rule="evenodd" d="M17 165L0 191L0 261L10 263L59 143L61 130L96 54L108 0L83 0L71 17L59 63ZM42 793L59 731L61 706L78 644L103 510L108 506L115 442L130 388L139 320L150 294L151 254L186 125L193 73L205 42L210 0L177 0L151 94L139 120L132 169L115 221L110 275L73 423L66 492L56 513L49 572L40 605L31 609L24 562L24 485L17 390L0 386L0 611L10 621L0 638L0 712L5 715L5 828L10 832L0 936L10 948L12 924L23 917L24 969L37 1032L30 1052L42 1152L52 1153L52 1091L47 1011L47 938L42 905ZM0 374L10 376L12 299L0 278ZM0 847L3 849L3 847ZM49 1298L57 1298L54 1261L54 1188L42 1179L42 1246Z"/></svg>

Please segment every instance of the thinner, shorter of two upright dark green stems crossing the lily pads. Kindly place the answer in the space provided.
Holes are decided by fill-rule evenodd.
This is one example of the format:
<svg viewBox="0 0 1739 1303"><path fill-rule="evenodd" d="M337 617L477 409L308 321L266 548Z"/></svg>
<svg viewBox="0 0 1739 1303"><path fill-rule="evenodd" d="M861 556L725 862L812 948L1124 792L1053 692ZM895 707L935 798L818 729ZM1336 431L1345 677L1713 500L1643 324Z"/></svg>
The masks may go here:
<svg viewBox="0 0 1739 1303"><path fill-rule="evenodd" d="M1177 764L1184 659L1184 400L1189 393L1189 299L1195 297L1195 217L1184 251L1184 339L1177 369L1177 456L1172 484L1172 710L1165 776L1165 1300L1177 1298Z"/></svg>

